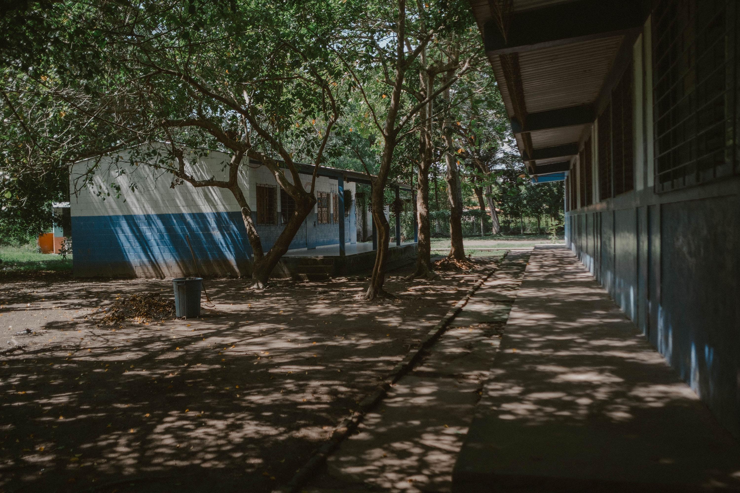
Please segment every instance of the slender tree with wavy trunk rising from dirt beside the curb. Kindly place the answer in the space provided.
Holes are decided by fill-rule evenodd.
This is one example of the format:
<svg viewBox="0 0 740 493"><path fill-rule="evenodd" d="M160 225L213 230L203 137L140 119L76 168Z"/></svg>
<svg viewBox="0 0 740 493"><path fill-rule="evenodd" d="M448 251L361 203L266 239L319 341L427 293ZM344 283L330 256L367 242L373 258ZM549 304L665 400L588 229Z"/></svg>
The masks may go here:
<svg viewBox="0 0 740 493"><path fill-rule="evenodd" d="M390 234L388 221L383 214L383 194L394 152L400 140L414 133L414 129L408 129L412 119L428 101L440 95L459 77L449 78L423 101L409 98L405 92L406 76L412 64L417 63L434 35L454 30L461 16L469 16L457 5L444 1L433 3L430 7L423 2L408 7L406 0L366 4L366 13L345 39L346 44L354 48L354 54L351 58L344 57L343 61L368 108L366 118L382 140L377 176L371 178L371 206L377 228L378 249L366 299L388 296L383 290L383 282ZM395 18L395 21L389 22L390 18ZM357 60L357 64L348 60ZM365 67L358 67L360 61L366 62ZM466 72L470 67L469 61L466 59L460 63L460 73Z"/></svg>

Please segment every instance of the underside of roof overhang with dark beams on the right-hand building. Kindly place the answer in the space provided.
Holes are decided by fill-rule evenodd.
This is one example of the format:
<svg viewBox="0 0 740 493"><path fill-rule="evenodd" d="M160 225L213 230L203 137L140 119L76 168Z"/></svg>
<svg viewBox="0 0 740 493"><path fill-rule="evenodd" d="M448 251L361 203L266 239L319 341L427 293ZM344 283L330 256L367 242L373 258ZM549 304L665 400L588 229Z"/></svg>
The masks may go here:
<svg viewBox="0 0 740 493"><path fill-rule="evenodd" d="M469 2L528 172L569 163L631 60L649 1Z"/></svg>

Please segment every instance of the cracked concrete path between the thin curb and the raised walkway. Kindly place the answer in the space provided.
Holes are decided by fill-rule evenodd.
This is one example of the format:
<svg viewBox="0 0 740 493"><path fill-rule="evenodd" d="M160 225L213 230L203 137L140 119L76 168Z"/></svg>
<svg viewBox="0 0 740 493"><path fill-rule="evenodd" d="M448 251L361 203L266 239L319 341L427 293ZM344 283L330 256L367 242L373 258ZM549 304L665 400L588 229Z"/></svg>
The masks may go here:
<svg viewBox="0 0 740 493"><path fill-rule="evenodd" d="M530 252L509 253L414 370L301 489L310 493L449 492L454 461Z"/></svg>

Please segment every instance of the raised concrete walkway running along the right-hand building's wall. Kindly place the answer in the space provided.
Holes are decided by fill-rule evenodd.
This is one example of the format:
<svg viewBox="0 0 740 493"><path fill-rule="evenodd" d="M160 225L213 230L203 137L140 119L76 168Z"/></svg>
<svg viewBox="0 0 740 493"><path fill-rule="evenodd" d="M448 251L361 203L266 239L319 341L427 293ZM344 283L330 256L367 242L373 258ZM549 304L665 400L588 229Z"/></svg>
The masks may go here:
<svg viewBox="0 0 740 493"><path fill-rule="evenodd" d="M571 251L535 248L454 492L706 492L738 443Z"/></svg>

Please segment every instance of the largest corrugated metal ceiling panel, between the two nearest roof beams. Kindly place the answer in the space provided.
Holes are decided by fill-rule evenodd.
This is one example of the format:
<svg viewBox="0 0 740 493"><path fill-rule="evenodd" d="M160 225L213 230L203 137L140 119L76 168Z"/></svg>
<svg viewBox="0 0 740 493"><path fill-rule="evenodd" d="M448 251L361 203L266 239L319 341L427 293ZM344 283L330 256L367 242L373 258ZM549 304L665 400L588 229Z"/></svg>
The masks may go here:
<svg viewBox="0 0 740 493"><path fill-rule="evenodd" d="M621 42L620 35L520 53L527 111L596 101Z"/></svg>

